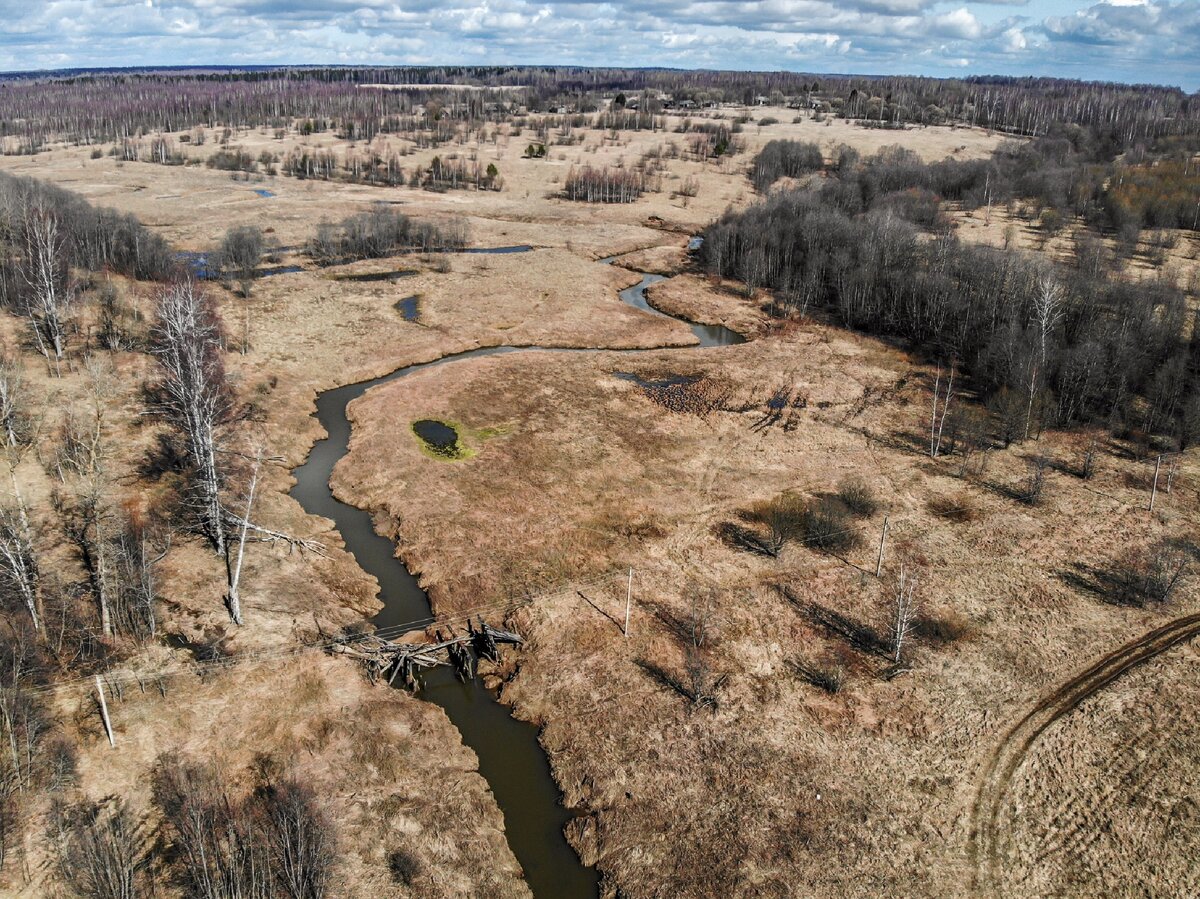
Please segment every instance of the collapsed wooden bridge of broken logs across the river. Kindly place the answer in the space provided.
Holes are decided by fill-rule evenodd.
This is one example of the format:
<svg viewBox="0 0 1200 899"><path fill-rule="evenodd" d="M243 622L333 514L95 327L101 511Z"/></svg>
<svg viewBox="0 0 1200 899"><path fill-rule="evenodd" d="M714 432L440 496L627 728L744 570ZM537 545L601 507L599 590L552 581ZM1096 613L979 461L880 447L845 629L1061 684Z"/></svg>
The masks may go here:
<svg viewBox="0 0 1200 899"><path fill-rule="evenodd" d="M524 637L510 630L500 630L479 618L479 627L468 618L467 633L456 634L448 625L449 634L437 628L426 631L430 642L400 642L384 640L374 634L346 636L329 645L329 652L335 655L349 655L366 665L371 681L388 678L392 684L402 677L408 689L421 689L416 673L421 669L436 665L452 665L455 673L462 681L475 678L476 659L500 663L500 645L521 646ZM406 635L407 636L407 635Z"/></svg>

